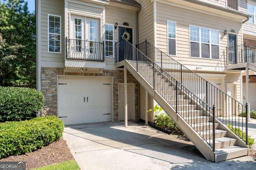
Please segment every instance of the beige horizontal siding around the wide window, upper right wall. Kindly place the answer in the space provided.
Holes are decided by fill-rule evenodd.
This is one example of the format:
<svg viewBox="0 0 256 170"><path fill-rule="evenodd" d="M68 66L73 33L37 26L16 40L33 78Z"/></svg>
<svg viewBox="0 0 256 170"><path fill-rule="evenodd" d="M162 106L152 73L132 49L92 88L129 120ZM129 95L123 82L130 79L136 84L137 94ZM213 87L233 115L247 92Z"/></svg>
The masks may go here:
<svg viewBox="0 0 256 170"><path fill-rule="evenodd" d="M238 34L238 44L242 43L241 23L233 20L202 14L192 10L178 8L167 4L157 3L157 47L167 53L167 21L176 22L177 57L182 64L225 67L226 46L228 36L224 30L234 29ZM189 25L206 27L220 31L220 60L198 59L190 57Z"/></svg>

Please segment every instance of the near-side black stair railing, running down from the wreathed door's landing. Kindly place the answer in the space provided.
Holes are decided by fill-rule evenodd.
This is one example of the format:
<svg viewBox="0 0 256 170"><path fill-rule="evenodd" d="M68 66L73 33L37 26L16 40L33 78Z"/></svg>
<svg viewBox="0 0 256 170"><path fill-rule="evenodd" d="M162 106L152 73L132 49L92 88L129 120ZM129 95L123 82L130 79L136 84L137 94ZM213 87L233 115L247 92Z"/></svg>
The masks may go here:
<svg viewBox="0 0 256 170"><path fill-rule="evenodd" d="M199 115L198 113L204 112L205 116L215 117L215 107L211 107L202 101L198 96L186 88L182 83L176 80L172 75L166 72L161 66L156 64L150 58L148 58L144 53L134 47L128 41L119 41L116 43L116 61L122 61L126 59L136 71L154 88L158 94L160 94L166 102L170 104L177 114L180 114L185 121L198 133L201 135L214 152L215 148L215 133L211 138L210 134L210 124L208 127L196 127L195 120L193 117ZM184 100L180 100L184 99ZM187 105L187 101L190 100L193 103ZM161 105L161 104L160 104ZM185 117L184 111L193 109L192 106L200 106L195 108L196 110L189 116ZM202 119L201 123L207 123L206 120ZM212 124L213 131L215 129L214 121ZM204 138L203 138L204 137ZM213 139L211 142L210 139Z"/></svg>

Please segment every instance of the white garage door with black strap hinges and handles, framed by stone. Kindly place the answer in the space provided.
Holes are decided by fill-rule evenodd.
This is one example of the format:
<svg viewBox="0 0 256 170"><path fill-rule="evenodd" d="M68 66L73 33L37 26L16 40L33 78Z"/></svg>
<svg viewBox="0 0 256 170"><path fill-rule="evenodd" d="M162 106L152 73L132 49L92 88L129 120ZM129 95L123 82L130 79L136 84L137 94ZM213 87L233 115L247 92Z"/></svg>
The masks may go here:
<svg viewBox="0 0 256 170"><path fill-rule="evenodd" d="M58 117L65 125L110 121L111 79L58 77Z"/></svg>

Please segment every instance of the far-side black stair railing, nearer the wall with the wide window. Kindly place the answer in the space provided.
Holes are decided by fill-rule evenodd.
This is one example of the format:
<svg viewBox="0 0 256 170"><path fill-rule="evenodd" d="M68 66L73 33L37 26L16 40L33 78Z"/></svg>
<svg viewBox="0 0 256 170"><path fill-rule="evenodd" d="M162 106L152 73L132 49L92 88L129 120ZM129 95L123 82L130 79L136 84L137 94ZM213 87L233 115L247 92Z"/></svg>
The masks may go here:
<svg viewBox="0 0 256 170"><path fill-rule="evenodd" d="M147 41L136 45L136 47L152 62L159 65L161 69L166 70L182 86L186 87L189 92L197 96L197 100L204 102L207 106L215 106L215 118L225 125L230 124L234 128L240 128L242 133L240 131L237 132L235 129L231 129L231 131L238 135L246 145L248 144L247 116L246 118L239 116L243 112L246 112L247 115L247 104L243 105Z"/></svg>

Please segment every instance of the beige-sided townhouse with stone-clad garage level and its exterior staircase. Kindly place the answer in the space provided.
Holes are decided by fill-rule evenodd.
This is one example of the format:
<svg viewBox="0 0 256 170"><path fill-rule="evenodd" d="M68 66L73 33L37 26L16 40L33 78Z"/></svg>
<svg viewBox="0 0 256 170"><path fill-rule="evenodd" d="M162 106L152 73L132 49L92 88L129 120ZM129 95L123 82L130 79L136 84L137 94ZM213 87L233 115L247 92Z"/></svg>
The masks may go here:
<svg viewBox="0 0 256 170"><path fill-rule="evenodd" d="M232 3L36 0L42 115L127 125L153 121L147 110L159 104L208 160L248 155L227 127L247 108L242 71L227 66L249 15Z"/></svg>

